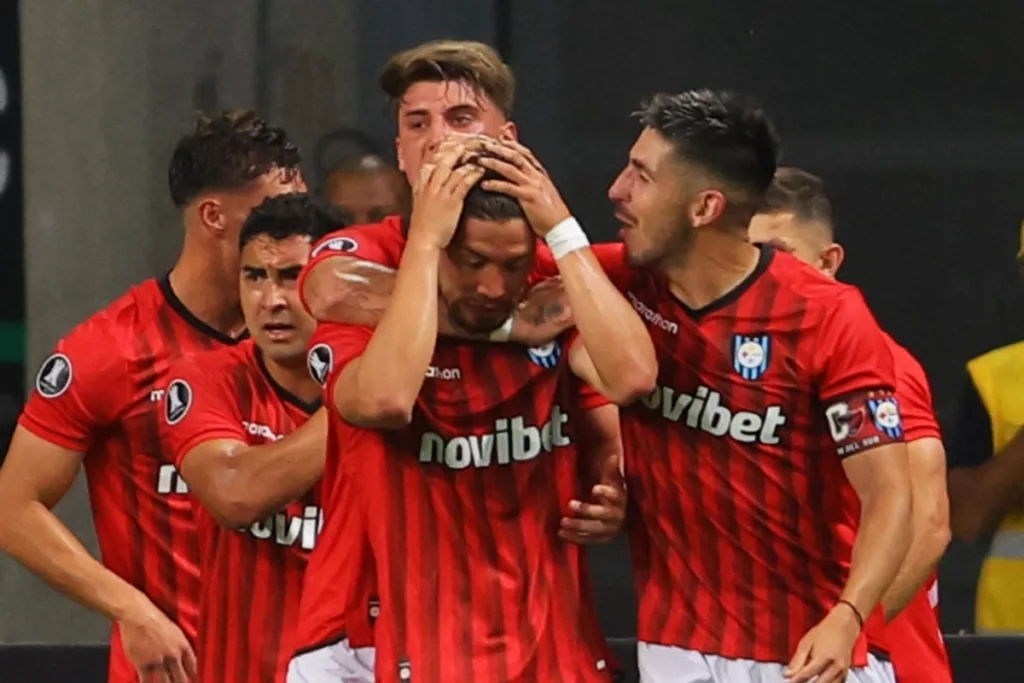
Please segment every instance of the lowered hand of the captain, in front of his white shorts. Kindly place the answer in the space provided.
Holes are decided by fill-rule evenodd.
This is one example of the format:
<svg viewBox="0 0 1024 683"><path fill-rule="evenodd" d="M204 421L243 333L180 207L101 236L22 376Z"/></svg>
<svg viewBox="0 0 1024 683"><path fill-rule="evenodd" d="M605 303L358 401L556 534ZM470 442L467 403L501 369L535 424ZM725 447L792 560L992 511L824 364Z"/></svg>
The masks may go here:
<svg viewBox="0 0 1024 683"><path fill-rule="evenodd" d="M839 604L807 632L785 668L787 683L843 683L850 671L860 623L853 610ZM815 676L817 678L815 678Z"/></svg>

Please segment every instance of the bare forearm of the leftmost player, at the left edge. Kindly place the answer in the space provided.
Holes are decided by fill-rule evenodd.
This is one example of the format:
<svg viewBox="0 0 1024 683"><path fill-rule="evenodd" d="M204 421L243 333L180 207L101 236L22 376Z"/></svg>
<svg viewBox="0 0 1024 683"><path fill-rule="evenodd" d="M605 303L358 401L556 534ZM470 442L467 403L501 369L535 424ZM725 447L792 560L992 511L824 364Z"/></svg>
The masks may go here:
<svg viewBox="0 0 1024 683"><path fill-rule="evenodd" d="M46 506L5 505L0 547L30 571L79 604L121 621L148 599L100 564Z"/></svg>

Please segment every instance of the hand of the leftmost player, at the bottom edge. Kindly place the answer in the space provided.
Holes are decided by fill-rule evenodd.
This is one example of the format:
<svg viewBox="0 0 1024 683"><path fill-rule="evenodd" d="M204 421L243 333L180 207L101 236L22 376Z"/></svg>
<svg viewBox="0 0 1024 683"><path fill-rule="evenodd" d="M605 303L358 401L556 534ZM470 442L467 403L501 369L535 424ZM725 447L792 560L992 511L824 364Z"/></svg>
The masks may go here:
<svg viewBox="0 0 1024 683"><path fill-rule="evenodd" d="M185 635L153 603L119 621L118 630L142 683L186 683L199 677Z"/></svg>

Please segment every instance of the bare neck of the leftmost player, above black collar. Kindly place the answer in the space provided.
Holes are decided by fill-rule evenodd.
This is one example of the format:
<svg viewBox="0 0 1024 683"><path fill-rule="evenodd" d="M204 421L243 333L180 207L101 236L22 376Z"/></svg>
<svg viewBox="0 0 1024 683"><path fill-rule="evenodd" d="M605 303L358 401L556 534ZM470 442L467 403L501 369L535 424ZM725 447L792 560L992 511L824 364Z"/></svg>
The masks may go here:
<svg viewBox="0 0 1024 683"><path fill-rule="evenodd" d="M225 272L223 264L206 251L185 244L171 270L171 290L189 313L217 332L237 337L245 330L238 273Z"/></svg>

